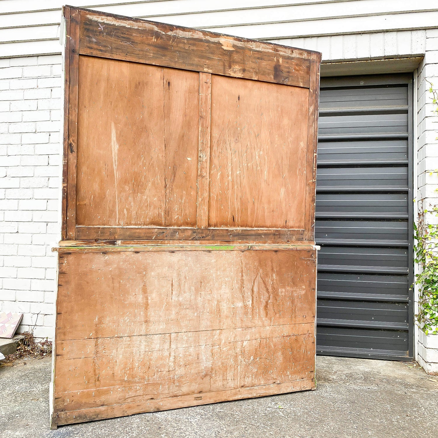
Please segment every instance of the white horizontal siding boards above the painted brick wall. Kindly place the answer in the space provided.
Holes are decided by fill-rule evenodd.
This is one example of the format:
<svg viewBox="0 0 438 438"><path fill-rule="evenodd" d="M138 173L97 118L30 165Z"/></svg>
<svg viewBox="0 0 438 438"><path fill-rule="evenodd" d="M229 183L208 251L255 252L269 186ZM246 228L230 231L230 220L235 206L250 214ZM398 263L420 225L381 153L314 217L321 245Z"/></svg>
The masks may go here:
<svg viewBox="0 0 438 438"><path fill-rule="evenodd" d="M438 3L434 0L74 3L113 14L268 40L425 29L438 23ZM57 39L63 4L64 1L58 0L0 0L0 57L60 53Z"/></svg>

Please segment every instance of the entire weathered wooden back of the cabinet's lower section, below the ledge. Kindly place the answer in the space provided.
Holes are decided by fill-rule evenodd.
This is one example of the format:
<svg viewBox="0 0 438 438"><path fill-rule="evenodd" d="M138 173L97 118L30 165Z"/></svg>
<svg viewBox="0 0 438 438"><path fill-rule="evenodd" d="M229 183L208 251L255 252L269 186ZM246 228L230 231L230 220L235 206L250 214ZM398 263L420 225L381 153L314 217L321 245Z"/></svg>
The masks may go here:
<svg viewBox="0 0 438 438"><path fill-rule="evenodd" d="M53 422L314 387L314 250L60 249Z"/></svg>

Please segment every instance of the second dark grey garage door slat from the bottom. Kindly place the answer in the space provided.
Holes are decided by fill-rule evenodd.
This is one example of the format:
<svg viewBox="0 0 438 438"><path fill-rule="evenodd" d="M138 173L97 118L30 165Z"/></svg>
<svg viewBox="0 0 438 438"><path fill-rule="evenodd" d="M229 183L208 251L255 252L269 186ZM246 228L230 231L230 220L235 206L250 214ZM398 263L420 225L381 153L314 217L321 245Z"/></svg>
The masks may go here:
<svg viewBox="0 0 438 438"><path fill-rule="evenodd" d="M408 328L408 306L400 302L318 300L318 322L354 325L391 325Z"/></svg>

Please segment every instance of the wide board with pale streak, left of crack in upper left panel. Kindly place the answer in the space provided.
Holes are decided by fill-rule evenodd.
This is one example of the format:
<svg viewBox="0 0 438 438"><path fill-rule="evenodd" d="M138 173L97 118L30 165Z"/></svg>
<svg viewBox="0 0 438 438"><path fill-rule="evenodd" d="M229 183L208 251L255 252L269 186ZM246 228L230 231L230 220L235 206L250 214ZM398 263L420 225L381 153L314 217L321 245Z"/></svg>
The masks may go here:
<svg viewBox="0 0 438 438"><path fill-rule="evenodd" d="M164 226L162 68L83 56L80 67L77 223Z"/></svg>

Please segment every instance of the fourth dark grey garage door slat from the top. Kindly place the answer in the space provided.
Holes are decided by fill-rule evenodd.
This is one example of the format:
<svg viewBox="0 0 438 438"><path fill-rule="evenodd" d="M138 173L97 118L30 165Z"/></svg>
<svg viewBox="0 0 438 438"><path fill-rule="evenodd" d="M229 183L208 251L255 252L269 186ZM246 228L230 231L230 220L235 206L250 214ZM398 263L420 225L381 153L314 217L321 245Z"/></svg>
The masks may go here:
<svg viewBox="0 0 438 438"><path fill-rule="evenodd" d="M406 189L407 173L406 166L320 167L316 173L316 189Z"/></svg>

